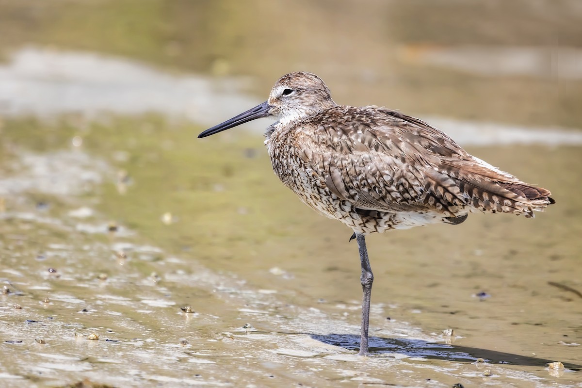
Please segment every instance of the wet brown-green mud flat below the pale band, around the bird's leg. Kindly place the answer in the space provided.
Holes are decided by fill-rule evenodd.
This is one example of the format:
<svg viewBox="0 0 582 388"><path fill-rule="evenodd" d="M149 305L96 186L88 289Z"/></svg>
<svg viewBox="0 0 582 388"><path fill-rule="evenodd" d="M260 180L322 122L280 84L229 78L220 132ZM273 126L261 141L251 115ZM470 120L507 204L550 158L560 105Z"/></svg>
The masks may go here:
<svg viewBox="0 0 582 388"><path fill-rule="evenodd" d="M373 236L374 356L359 358L349 230L280 187L260 137L200 144L198 127L155 117L80 122L3 123L2 385L582 381L580 171L567 168L579 148L471 149L525 159L514 173L563 193L535 220Z"/></svg>

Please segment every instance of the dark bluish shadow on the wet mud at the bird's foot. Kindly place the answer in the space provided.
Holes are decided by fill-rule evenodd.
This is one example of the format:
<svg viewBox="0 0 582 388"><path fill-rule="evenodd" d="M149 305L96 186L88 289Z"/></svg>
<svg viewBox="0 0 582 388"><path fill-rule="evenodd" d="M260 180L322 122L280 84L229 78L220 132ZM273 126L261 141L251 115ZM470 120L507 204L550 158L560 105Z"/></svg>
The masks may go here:
<svg viewBox="0 0 582 388"><path fill-rule="evenodd" d="M348 350L359 350L360 336L354 334L309 334L311 338L323 343L343 347ZM370 353L398 353L409 357L423 357L448 361L475 362L482 358L489 363L512 364L524 366L548 366L552 359L528 357L521 354L505 353L496 350L482 349L455 344L428 342L419 339L370 337ZM563 363L567 369L580 371L582 365Z"/></svg>

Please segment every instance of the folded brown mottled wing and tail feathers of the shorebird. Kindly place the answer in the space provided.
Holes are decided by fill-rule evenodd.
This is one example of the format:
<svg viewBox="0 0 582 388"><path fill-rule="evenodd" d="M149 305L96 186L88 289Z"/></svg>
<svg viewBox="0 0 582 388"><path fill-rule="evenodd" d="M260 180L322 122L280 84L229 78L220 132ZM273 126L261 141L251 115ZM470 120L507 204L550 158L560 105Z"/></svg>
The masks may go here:
<svg viewBox="0 0 582 388"><path fill-rule="evenodd" d="M336 106L302 124L294 141L313 150L304 161L325 186L360 209L455 217L468 207L533 216L554 202L548 190L474 158L445 133L399 112Z"/></svg>

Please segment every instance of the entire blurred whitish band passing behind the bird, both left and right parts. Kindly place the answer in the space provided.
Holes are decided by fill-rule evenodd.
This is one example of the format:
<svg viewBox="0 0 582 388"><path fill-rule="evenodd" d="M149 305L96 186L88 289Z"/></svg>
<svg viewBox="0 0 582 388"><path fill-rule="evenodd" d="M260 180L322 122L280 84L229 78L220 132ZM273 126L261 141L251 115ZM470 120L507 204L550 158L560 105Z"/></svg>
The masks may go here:
<svg viewBox="0 0 582 388"><path fill-rule="evenodd" d="M27 47L0 65L0 114L50 117L79 112L105 114L155 112L212 126L260 103L242 92L243 79L176 75L122 58ZM265 99L268 93L265 92ZM582 133L451 118L423 118L446 130L462 145L582 144ZM262 133L259 120L245 124Z"/></svg>

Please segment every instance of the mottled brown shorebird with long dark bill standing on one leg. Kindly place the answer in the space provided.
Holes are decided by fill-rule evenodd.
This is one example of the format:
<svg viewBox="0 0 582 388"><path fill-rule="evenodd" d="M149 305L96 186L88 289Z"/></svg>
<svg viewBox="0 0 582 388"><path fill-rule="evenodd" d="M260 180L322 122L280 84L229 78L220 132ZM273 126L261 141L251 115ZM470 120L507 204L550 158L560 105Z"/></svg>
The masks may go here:
<svg viewBox="0 0 582 388"><path fill-rule="evenodd" d="M374 275L364 236L432 223L458 225L470 212L528 218L555 203L531 186L470 155L422 120L375 106L333 102L320 77L281 77L269 99L203 131L206 137L260 118L275 174L308 207L353 230L363 301L359 355L368 353Z"/></svg>

